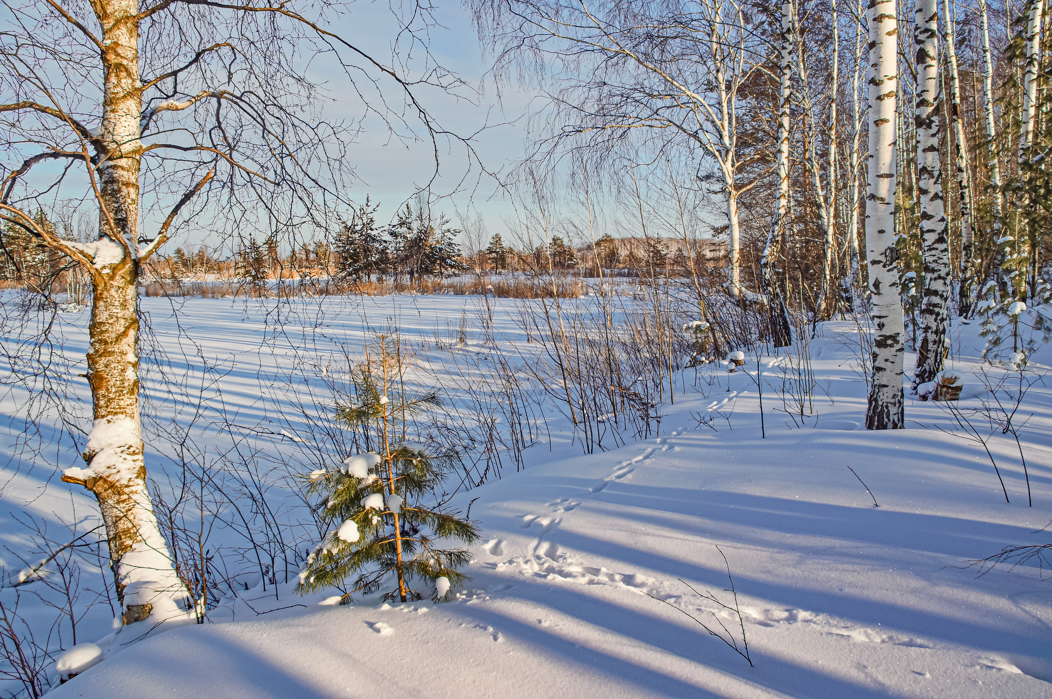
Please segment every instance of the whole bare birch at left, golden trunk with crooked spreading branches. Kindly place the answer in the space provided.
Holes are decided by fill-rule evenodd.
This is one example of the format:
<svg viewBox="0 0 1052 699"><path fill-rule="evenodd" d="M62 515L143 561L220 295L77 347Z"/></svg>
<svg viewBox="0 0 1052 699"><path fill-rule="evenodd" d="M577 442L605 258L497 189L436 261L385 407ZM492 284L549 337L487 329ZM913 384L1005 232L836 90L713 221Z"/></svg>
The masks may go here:
<svg viewBox="0 0 1052 699"><path fill-rule="evenodd" d="M147 488L137 305L143 265L190 221L220 235L297 229L324 225L349 203L339 194L351 175L345 144L360 126L313 109L321 93L299 52L343 73L358 103L396 131L410 128L410 117L382 106L382 81L425 132L441 129L416 102L413 83L289 3L26 0L7 7L0 218L76 260L93 288L86 376L94 423L85 465L66 468L62 480L98 499L123 623L148 632L189 621L202 603L173 565ZM406 24L401 40L419 28ZM427 67L417 83L457 85L433 62ZM70 199L97 213L97 240L61 240L34 220L42 202Z"/></svg>

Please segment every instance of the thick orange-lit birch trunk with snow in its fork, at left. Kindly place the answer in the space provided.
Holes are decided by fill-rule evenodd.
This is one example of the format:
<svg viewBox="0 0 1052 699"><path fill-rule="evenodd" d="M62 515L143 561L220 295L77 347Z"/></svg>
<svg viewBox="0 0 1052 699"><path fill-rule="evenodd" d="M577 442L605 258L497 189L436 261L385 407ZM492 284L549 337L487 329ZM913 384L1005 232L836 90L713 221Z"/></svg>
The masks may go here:
<svg viewBox="0 0 1052 699"><path fill-rule="evenodd" d="M102 124L92 140L102 235L80 247L93 267L87 371L95 423L83 454L87 465L67 468L62 480L98 499L122 621L144 622L148 631L193 620L196 608L154 515L139 421L136 246L143 145L137 2L105 0L93 7L104 38Z"/></svg>

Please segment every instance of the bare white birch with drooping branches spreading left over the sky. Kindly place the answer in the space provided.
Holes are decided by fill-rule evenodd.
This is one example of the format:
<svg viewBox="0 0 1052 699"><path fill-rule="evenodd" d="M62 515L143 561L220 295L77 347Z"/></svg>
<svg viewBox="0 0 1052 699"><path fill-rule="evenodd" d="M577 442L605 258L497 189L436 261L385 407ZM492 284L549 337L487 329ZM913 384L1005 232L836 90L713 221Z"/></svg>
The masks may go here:
<svg viewBox="0 0 1052 699"><path fill-rule="evenodd" d="M760 180L753 171L765 159L757 139L743 138L752 126L742 93L764 53L745 5L473 0L471 6L483 42L498 54L498 75L518 66L520 77L555 86L548 93L554 116L545 123L555 135L541 139L531 159L565 146L610 165L626 154L644 152L649 162L689 148L711 164L727 217L727 291L741 296L740 200Z"/></svg>

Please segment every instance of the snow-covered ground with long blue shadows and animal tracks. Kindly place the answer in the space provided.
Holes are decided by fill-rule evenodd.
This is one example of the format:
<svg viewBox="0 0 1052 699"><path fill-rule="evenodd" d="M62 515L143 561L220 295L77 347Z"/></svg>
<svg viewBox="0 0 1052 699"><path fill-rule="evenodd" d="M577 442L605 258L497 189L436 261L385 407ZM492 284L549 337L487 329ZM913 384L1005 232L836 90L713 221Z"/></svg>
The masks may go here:
<svg viewBox="0 0 1052 699"><path fill-rule="evenodd" d="M150 341L166 355L147 373L144 411L158 416L154 430L176 424L191 435L204 461L232 444L257 450L265 468L302 459L309 440L281 433L304 439L311 430L297 421L304 377L320 380L309 377L329 376L343 353L360 353L366 327L399 325L416 343L420 383L458 356L521 362L533 352L514 322L514 300L495 301L492 341L472 331L462 346L449 340L462 315L474 326L480 306L470 297L292 307L142 301ZM62 320L67 355L83 357L86 314ZM953 328L962 408L991 397L979 380L977 325ZM1052 542L1052 533L1037 532L1052 520L1052 380L1038 380L1020 408L1032 415L1020 433L1028 506L1010 435L998 431L989 441L1006 503L990 457L963 438L945 405L908 400L909 430L864 430L853 323L820 326L809 352L816 387L803 418L786 412L786 359L773 355L751 356L734 374L723 365L676 374L674 403L666 395L660 406L660 433L628 435L612 451L583 454L566 421L550 416L550 436L525 451L524 471L505 467L500 480L456 496L485 536L453 602L356 598L336 606L329 595L301 598L284 578L267 585L249 571L238 578L247 590L227 594L215 623L128 645L49 696L1052 696L1050 583L1032 565L982 577L965 567L1007 545ZM1049 364L1052 352L1035 354L1031 376ZM178 379L175 393L160 387L162 370ZM84 380L72 381L88 401ZM12 414L16 398L5 405L8 455L25 433L24 416ZM0 554L8 573L29 545L18 523L27 515L52 527L90 525L93 500L59 481L76 458L63 444L33 464L15 458L2 472ZM158 480L175 470L170 444L149 444ZM296 498L276 486L266 493L281 517L299 517ZM301 527L305 540L311 526ZM85 567L83 576L102 590L101 571ZM54 618L31 602L28 617ZM109 633L109 608L93 607L77 640Z"/></svg>

